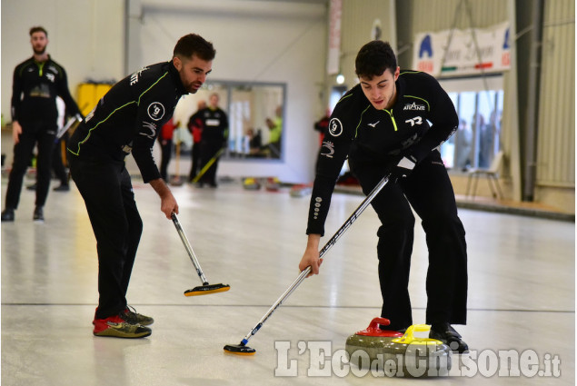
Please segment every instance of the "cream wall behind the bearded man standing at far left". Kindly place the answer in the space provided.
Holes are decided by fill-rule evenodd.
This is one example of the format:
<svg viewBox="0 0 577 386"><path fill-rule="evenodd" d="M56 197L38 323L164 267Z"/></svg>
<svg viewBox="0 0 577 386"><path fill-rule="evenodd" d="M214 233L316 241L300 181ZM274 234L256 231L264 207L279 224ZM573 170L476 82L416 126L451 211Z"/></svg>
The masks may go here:
<svg viewBox="0 0 577 386"><path fill-rule="evenodd" d="M120 80L124 76L124 1L3 0L2 114L11 122L10 99L15 66L32 56L33 25L48 31L47 52L65 67L68 87L87 79ZM3 144L4 147L4 144Z"/></svg>

